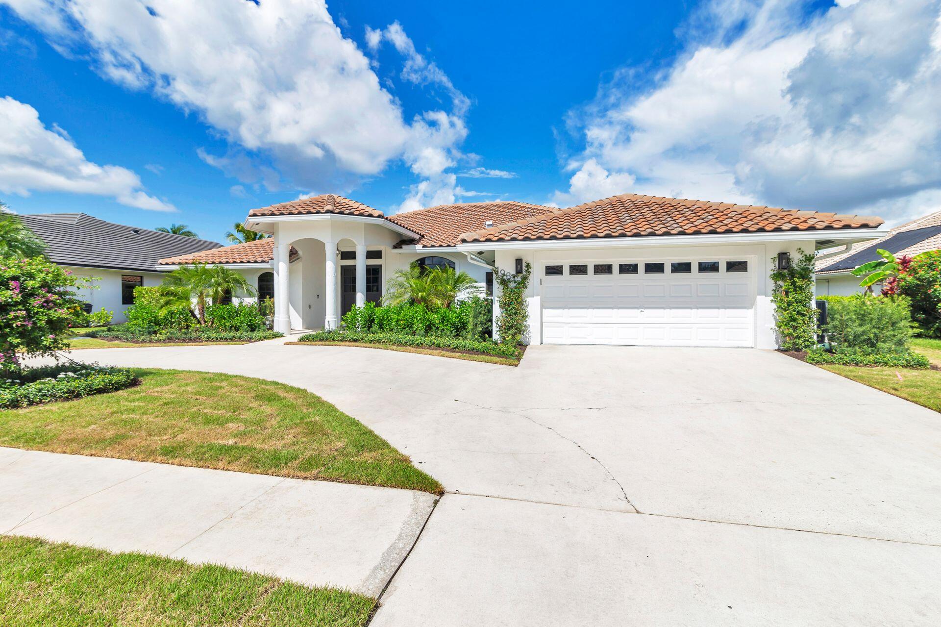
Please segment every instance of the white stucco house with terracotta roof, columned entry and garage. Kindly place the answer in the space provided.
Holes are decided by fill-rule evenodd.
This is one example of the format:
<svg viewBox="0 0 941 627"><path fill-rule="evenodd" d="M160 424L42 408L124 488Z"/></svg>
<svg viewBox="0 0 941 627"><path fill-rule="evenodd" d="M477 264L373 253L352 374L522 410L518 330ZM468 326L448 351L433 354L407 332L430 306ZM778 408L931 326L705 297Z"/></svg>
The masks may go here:
<svg viewBox="0 0 941 627"><path fill-rule="evenodd" d="M878 217L626 194L557 209L514 201L385 216L325 194L253 209L271 238L164 259L244 272L276 330L332 329L400 268L452 265L488 287L530 263L530 344L776 346L772 258L885 235ZM776 263L776 262L775 262Z"/></svg>

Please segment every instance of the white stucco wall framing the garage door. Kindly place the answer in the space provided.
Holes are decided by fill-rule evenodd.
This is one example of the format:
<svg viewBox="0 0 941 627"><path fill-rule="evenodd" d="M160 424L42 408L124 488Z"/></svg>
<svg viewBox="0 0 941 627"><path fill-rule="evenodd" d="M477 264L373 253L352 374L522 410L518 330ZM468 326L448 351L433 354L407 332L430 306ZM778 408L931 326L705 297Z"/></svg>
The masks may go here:
<svg viewBox="0 0 941 627"><path fill-rule="evenodd" d="M686 246L657 246L657 247L625 247L625 248L586 248L565 250L538 250L538 249L500 249L496 252L496 265L502 270L513 272L516 259L533 265L533 278L527 290L529 306L530 333L524 337L528 344L542 343L542 304L540 301L541 274L538 268L548 262L592 262L624 259L624 261L684 261L693 257L711 258L742 258L754 264L758 273L757 294L755 300L755 346L758 348L776 348L777 339L774 332L774 307L771 302L773 284L769 275L772 265L771 258L778 252L789 252L792 259L796 259L797 249L811 251L814 249L813 240L805 242L781 242L753 245L686 245ZM482 268L483 269L483 268ZM499 305L494 305L494 315L498 314Z"/></svg>

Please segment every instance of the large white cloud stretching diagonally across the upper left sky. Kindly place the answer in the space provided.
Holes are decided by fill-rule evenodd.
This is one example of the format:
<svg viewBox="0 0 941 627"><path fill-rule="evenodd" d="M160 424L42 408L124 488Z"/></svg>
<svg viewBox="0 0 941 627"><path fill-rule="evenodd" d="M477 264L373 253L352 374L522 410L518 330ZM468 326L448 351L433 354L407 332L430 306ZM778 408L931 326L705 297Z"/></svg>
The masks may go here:
<svg viewBox="0 0 941 627"><path fill-rule="evenodd" d="M367 31L405 57L405 80L443 88L453 113L407 121L370 59L323 0L0 0L63 50L90 51L103 76L153 93L228 139L200 157L269 189L353 186L404 158L428 179L459 155L469 101L424 59L401 24ZM377 34L378 33L378 34Z"/></svg>

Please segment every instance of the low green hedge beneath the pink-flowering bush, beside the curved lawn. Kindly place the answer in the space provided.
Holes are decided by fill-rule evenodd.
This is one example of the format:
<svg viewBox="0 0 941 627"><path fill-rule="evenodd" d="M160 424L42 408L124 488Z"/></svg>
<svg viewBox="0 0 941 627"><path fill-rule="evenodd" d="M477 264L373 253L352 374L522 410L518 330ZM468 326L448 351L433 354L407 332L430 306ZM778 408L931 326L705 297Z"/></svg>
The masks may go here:
<svg viewBox="0 0 941 627"><path fill-rule="evenodd" d="M69 362L23 368L0 378L0 409L116 392L136 382L134 373L127 368L97 364Z"/></svg>

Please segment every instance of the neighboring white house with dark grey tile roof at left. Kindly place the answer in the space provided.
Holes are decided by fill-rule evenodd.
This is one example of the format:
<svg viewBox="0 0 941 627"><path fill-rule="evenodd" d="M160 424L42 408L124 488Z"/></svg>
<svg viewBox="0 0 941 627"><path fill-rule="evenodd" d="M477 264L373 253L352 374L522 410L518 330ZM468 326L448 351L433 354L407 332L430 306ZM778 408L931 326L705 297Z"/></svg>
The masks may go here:
<svg viewBox="0 0 941 627"><path fill-rule="evenodd" d="M31 214L18 216L45 243L46 256L79 277L92 279L80 291L95 310L124 311L134 301L137 285L158 285L167 268L157 262L222 246L196 237L106 222L88 214Z"/></svg>

